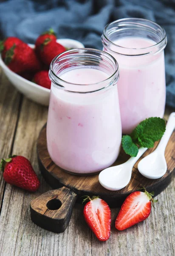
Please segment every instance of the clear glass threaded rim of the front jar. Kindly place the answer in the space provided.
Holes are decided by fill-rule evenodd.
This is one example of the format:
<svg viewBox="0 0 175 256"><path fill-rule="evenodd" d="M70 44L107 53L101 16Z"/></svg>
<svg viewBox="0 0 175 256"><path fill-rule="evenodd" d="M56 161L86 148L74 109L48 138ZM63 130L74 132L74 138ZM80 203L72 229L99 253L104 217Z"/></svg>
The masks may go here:
<svg viewBox="0 0 175 256"><path fill-rule="evenodd" d="M104 79L102 81L99 81L99 82L96 82L96 83L89 83L89 84L75 84L75 83L71 83L71 82L68 82L68 81L65 81L63 79L61 79L59 76L56 75L56 73L54 72L54 64L56 63L56 61L59 60L59 58L62 58L65 54L67 56L70 56L71 53L74 53L77 55L79 55L80 52L83 53L84 51L84 54L85 51L89 51L89 52L92 52L92 53L99 53L99 54L103 54L105 56L107 56L112 62L113 64L115 65L115 70L114 72L112 73L112 75L110 75L107 79ZM75 57L75 55L73 56ZM75 63L76 63L76 58L75 58ZM62 82L64 84L67 84L67 85L75 85L76 87L82 87L82 86L88 86L88 87L92 87L94 85L98 85L98 84L102 84L102 83L107 83L109 81L109 84L110 84L110 80L112 80L113 78L115 78L116 76L116 82L119 80L119 64L118 62L116 61L116 59L110 55L109 53L107 52L104 52L102 50L98 50L98 49L92 49L92 48L76 48L76 49L71 49L71 50L68 50L68 51L65 51L65 52L62 52L60 53L59 55L57 55L51 62L50 64L50 70L49 70L49 78L50 80L56 84L57 86L59 87L62 87L62 89L64 89L64 86L62 86L61 84L59 84L59 82ZM108 86L105 86L105 87L102 87L98 90L103 90L104 88L106 88ZM89 93L89 92L95 92L95 91L98 91L98 90L92 90L92 91L86 91L86 92L79 92L79 91L74 91L74 90L66 90L65 91L68 91L68 92L75 92L75 93Z"/></svg>

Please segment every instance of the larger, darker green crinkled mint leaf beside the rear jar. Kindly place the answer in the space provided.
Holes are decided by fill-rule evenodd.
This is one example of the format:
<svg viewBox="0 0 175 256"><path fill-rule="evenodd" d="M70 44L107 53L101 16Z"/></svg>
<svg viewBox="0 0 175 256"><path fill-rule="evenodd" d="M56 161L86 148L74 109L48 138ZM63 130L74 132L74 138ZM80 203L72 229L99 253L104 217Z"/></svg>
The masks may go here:
<svg viewBox="0 0 175 256"><path fill-rule="evenodd" d="M133 142L144 148L152 148L155 141L161 139L165 132L165 121L160 117L150 117L140 122L130 136Z"/></svg>

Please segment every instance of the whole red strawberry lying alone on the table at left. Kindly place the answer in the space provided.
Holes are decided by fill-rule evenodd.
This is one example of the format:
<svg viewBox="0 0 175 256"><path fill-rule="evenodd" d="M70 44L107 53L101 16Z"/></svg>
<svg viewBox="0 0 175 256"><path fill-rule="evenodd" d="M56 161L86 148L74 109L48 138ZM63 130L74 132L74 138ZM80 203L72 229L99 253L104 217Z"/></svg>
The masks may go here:
<svg viewBox="0 0 175 256"><path fill-rule="evenodd" d="M13 156L1 160L0 169L3 171L4 180L7 183L35 192L40 181L31 166L30 161L22 156Z"/></svg>

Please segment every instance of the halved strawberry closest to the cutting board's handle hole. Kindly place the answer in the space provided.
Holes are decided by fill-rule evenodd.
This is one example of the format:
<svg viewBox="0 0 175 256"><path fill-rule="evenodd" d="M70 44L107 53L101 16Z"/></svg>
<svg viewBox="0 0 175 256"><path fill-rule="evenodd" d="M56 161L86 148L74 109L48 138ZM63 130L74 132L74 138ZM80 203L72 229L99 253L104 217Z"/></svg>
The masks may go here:
<svg viewBox="0 0 175 256"><path fill-rule="evenodd" d="M85 221L100 241L106 241L110 237L110 207L104 200L96 196L86 199L90 199L90 202L85 205L83 210Z"/></svg>

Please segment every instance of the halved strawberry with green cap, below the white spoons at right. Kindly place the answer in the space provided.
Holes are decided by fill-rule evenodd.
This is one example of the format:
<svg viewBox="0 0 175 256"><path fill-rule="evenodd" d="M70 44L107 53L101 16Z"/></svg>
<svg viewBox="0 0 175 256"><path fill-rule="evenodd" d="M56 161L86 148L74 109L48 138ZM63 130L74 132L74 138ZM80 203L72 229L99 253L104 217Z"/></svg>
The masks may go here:
<svg viewBox="0 0 175 256"><path fill-rule="evenodd" d="M148 193L135 191L131 193L121 206L120 212L116 218L115 227L118 230L125 230L141 221L144 221L151 212L152 204L158 200L152 198L154 192Z"/></svg>

